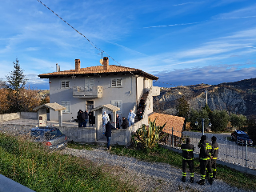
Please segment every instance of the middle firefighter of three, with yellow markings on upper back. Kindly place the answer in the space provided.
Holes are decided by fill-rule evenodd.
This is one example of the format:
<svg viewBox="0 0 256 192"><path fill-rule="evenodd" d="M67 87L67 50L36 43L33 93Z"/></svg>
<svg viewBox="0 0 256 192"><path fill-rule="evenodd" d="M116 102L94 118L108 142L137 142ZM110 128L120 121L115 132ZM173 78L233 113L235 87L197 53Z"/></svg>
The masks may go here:
<svg viewBox="0 0 256 192"><path fill-rule="evenodd" d="M199 154L199 160L200 160L200 174L201 174L201 180L197 183L199 185L204 185L206 183L206 168L209 172L209 183L210 185L213 184L213 172L211 170L211 153L212 153L212 146L210 142L206 140L206 135L202 135L201 142L198 144L200 147L200 154Z"/></svg>

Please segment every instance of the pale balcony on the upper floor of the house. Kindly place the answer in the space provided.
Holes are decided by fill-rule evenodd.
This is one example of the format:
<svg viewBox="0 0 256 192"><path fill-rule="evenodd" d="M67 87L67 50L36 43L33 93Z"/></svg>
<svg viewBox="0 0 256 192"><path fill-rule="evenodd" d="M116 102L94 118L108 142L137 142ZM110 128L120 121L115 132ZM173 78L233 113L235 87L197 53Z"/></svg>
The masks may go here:
<svg viewBox="0 0 256 192"><path fill-rule="evenodd" d="M102 86L73 86L74 98L102 98Z"/></svg>

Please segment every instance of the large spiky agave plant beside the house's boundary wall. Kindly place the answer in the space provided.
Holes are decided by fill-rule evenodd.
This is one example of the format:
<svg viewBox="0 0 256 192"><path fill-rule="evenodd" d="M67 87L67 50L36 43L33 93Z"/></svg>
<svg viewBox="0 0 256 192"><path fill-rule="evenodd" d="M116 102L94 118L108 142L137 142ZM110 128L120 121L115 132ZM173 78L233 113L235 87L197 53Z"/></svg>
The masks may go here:
<svg viewBox="0 0 256 192"><path fill-rule="evenodd" d="M144 147L152 149L157 145L159 140L166 136L167 133L160 136L160 133L162 132L163 127L166 126L166 123L163 126L156 126L156 119L157 118L154 119L154 122L151 122L149 119L149 126L143 124L142 127L136 131L134 134L134 137L137 138L134 139L135 146L137 146L138 142L141 142Z"/></svg>

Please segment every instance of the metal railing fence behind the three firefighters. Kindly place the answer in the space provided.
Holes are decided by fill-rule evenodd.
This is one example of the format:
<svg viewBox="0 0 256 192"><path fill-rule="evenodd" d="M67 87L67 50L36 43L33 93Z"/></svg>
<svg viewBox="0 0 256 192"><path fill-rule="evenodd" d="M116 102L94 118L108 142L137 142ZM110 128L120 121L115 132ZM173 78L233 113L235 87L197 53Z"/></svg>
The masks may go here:
<svg viewBox="0 0 256 192"><path fill-rule="evenodd" d="M198 148L198 142L201 139L202 133L196 132L182 132L182 138L178 138L173 134L167 134L162 139L160 144L165 146L180 147L183 138L190 138L191 144L194 145L194 153L199 154L200 149ZM176 131L178 132L178 131ZM210 142L212 136L216 136L218 142L218 160L223 162L230 162L234 165L246 166L250 169L256 169L256 148L253 146L238 146L236 142L229 141L229 135L223 134L206 134L207 140Z"/></svg>

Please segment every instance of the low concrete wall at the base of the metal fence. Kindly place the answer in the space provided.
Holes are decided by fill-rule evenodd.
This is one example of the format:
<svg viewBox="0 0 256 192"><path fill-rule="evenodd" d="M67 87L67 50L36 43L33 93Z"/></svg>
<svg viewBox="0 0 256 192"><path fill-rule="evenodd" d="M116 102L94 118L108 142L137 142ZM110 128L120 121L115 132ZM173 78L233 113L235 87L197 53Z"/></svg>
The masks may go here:
<svg viewBox="0 0 256 192"><path fill-rule="evenodd" d="M163 148L166 148L168 150L173 150L174 152L177 152L179 154L182 154L182 150L180 150L178 148L173 148L173 147L170 147L170 146L163 146L163 145L159 145L159 146L161 146ZM194 154L194 158L199 158L199 154ZM231 169L238 170L238 171L240 171L242 173L252 174L252 175L256 176L256 170L251 170L250 168L247 168L245 166L238 166L238 165L234 165L234 164L232 164L230 162L222 162L220 160L217 160L217 164L222 165L222 166L228 166Z"/></svg>

